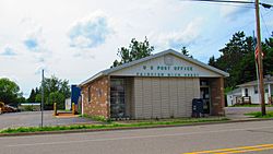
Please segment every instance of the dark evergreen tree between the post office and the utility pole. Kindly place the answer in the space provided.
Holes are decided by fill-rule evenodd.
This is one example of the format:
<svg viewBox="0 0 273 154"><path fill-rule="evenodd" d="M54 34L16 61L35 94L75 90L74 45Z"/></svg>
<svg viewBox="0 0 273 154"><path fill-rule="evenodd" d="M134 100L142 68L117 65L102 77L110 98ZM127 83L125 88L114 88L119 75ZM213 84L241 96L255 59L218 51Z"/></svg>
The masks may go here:
<svg viewBox="0 0 273 154"><path fill-rule="evenodd" d="M254 73L249 73L254 69L253 59L254 43L252 37L246 37L244 32L237 32L226 46L219 49L222 52L218 59L210 58L209 64L229 73L225 85L235 87L237 84L253 80ZM248 73L246 76L244 73Z"/></svg>

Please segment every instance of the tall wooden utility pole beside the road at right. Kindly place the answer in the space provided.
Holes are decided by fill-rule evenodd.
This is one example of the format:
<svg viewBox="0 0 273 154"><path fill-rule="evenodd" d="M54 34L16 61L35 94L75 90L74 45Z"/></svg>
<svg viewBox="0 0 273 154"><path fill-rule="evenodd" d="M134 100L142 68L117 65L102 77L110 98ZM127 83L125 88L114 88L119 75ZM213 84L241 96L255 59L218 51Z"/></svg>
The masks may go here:
<svg viewBox="0 0 273 154"><path fill-rule="evenodd" d="M264 104L264 87L263 87L263 62L262 62L262 46L261 46L261 28L260 28L260 10L259 0L256 0L256 27L257 27L257 49L258 49L258 70L259 70L259 90L261 98L262 116L266 115Z"/></svg>

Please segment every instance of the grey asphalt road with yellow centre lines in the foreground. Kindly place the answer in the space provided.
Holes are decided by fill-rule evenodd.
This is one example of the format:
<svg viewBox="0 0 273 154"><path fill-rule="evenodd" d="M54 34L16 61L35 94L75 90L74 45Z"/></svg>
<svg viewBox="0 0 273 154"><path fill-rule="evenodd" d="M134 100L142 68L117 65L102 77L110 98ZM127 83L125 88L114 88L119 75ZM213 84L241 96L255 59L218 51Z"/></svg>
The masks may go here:
<svg viewBox="0 0 273 154"><path fill-rule="evenodd" d="M182 154L251 146L246 147L245 152L271 154L273 153L272 144L273 120L269 120L159 129L4 137L0 138L0 153ZM259 151L254 151L257 145L261 145ZM271 146L269 147L269 145ZM237 153L240 151L242 149L237 149ZM222 154L226 153L222 152Z"/></svg>

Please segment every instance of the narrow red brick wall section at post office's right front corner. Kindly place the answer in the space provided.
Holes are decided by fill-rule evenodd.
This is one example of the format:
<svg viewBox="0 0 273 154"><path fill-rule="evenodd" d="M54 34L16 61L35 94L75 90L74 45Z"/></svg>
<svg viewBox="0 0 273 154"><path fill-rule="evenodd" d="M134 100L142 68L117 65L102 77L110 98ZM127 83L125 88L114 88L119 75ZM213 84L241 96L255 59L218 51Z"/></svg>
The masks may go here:
<svg viewBox="0 0 273 154"><path fill-rule="evenodd" d="M211 84L211 102L212 115L224 116L225 98L224 98L224 79L212 79Z"/></svg>

